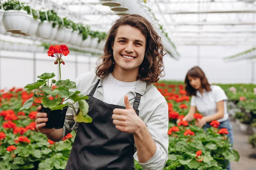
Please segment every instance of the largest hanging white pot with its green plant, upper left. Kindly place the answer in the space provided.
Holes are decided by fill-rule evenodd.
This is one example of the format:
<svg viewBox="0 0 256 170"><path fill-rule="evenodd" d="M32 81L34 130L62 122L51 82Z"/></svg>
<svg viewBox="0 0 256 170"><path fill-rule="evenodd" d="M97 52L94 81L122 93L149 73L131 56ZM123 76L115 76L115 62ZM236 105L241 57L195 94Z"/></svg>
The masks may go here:
<svg viewBox="0 0 256 170"><path fill-rule="evenodd" d="M22 9L22 4L17 0L8 0L3 3L5 10L3 25L6 31L15 34L24 34L29 30L31 17Z"/></svg>

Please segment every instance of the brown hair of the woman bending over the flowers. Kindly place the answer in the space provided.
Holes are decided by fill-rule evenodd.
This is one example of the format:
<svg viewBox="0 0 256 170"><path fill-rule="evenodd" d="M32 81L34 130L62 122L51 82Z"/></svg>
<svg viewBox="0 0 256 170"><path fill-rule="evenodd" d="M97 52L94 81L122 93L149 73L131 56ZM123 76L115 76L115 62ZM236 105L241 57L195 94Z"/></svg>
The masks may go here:
<svg viewBox="0 0 256 170"><path fill-rule="evenodd" d="M193 88L190 85L189 76L200 78L202 88L205 89L206 91L211 91L211 88L210 88L211 85L209 84L207 78L205 77L204 71L200 67L195 66L187 72L186 78L185 78L185 90L188 96L195 96L197 91L195 88Z"/></svg>

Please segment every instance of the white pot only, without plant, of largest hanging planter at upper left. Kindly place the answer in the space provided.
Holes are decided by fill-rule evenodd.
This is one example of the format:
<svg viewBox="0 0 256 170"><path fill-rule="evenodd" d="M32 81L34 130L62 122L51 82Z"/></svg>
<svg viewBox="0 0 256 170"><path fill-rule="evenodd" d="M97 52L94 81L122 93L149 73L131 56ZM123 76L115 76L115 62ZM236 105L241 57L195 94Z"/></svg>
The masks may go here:
<svg viewBox="0 0 256 170"><path fill-rule="evenodd" d="M8 10L3 15L3 26L6 31L12 33L20 33L29 29L28 19L26 18L27 12L24 10Z"/></svg>

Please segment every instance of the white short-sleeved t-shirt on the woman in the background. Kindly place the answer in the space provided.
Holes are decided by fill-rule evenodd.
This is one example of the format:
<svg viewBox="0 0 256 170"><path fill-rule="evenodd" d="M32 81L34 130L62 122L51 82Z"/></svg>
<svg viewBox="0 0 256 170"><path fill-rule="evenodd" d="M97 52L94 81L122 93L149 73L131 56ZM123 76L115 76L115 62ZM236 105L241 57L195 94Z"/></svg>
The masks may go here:
<svg viewBox="0 0 256 170"><path fill-rule="evenodd" d="M218 85L211 85L212 91L203 91L203 96L199 91L196 96L192 96L190 105L196 106L197 110L203 116L211 116L217 113L217 102L224 100L224 117L218 119L218 122L223 122L228 119L227 113L227 95L224 90Z"/></svg>

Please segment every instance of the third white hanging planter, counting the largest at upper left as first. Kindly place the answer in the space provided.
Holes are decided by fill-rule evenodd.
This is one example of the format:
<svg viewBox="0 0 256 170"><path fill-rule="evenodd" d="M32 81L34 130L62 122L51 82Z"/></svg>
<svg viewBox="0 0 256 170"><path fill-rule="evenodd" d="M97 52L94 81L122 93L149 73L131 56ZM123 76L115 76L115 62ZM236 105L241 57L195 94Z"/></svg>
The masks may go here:
<svg viewBox="0 0 256 170"><path fill-rule="evenodd" d="M36 36L41 38L49 38L52 32L52 23L44 20L43 23L39 23Z"/></svg>

